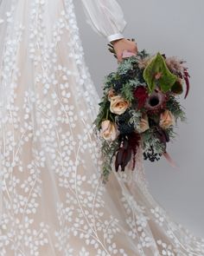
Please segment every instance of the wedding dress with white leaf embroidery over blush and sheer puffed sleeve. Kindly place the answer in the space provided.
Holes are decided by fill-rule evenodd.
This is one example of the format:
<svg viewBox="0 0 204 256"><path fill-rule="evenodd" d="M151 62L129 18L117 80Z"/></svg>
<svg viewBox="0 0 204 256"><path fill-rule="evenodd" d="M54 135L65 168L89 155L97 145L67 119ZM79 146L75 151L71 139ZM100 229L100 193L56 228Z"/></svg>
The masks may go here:
<svg viewBox="0 0 204 256"><path fill-rule="evenodd" d="M115 0L83 0L94 30L122 38ZM100 180L92 84L72 0L0 5L0 255L204 255L149 192L143 155Z"/></svg>

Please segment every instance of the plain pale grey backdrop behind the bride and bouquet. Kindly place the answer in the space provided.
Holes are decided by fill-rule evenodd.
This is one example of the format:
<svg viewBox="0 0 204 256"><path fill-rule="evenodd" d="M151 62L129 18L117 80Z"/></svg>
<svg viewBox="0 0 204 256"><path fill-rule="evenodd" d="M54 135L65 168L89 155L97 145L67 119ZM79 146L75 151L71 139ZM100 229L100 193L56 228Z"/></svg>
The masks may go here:
<svg viewBox="0 0 204 256"><path fill-rule="evenodd" d="M92 80L101 95L103 77L117 62L106 48L105 38L85 22L80 0L76 6L80 35ZM174 220L204 238L204 0L118 1L128 26L124 36L135 37L139 49L179 56L188 62L191 90L182 105L188 123L179 125L169 154L179 169L162 160L145 163L151 193Z"/></svg>

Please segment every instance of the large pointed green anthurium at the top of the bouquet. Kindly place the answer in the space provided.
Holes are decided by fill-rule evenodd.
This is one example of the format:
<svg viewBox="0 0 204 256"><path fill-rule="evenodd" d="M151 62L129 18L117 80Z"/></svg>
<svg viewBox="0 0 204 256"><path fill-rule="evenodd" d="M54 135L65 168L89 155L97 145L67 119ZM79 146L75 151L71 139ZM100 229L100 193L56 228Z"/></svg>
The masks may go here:
<svg viewBox="0 0 204 256"><path fill-rule="evenodd" d="M177 76L169 71L163 56L158 53L144 69L143 79L147 82L150 92L156 86L159 86L163 92L167 92L175 84Z"/></svg>

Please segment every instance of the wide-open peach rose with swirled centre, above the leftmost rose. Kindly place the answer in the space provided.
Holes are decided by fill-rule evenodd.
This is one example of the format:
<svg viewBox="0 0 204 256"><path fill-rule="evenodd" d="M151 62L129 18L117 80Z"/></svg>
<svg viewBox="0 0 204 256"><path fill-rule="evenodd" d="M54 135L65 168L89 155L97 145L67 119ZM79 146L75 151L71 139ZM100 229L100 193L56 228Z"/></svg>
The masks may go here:
<svg viewBox="0 0 204 256"><path fill-rule="evenodd" d="M112 96L110 99L111 107L110 110L113 114L122 115L129 108L130 103L125 101L120 95Z"/></svg>

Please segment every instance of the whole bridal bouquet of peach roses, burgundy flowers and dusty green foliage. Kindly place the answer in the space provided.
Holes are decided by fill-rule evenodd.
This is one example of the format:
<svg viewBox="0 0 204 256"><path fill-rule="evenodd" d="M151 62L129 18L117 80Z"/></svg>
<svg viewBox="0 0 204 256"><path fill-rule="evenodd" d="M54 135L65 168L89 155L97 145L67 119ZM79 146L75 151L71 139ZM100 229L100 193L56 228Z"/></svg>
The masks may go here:
<svg viewBox="0 0 204 256"><path fill-rule="evenodd" d="M112 49L111 49L112 50ZM112 50L113 52L113 50ZM102 140L103 180L115 170L124 171L128 163L136 166L136 154L143 148L144 160L167 157L167 143L175 137L175 125L185 120L178 101L187 86L188 69L176 57L145 50L137 56L124 54L116 72L105 78L104 95L94 124Z"/></svg>

